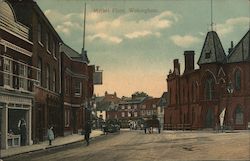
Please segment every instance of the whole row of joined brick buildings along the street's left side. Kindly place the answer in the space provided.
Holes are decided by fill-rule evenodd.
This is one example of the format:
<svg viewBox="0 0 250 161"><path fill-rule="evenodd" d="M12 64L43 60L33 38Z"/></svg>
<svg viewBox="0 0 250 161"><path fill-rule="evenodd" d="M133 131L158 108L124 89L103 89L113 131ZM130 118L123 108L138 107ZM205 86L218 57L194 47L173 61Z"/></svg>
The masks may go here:
<svg viewBox="0 0 250 161"><path fill-rule="evenodd" d="M0 0L1 148L78 133L91 115L93 76L87 51L63 43L33 0Z"/></svg>

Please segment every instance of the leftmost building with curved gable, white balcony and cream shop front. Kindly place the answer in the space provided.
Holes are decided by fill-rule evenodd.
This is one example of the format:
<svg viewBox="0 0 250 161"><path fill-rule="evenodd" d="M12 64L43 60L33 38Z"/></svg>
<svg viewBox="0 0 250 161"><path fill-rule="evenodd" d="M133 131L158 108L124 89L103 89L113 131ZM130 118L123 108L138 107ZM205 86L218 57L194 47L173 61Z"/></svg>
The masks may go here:
<svg viewBox="0 0 250 161"><path fill-rule="evenodd" d="M1 148L32 144L33 43L30 28L0 1L0 136ZM22 120L22 123L21 123ZM10 135L11 134L11 135Z"/></svg>

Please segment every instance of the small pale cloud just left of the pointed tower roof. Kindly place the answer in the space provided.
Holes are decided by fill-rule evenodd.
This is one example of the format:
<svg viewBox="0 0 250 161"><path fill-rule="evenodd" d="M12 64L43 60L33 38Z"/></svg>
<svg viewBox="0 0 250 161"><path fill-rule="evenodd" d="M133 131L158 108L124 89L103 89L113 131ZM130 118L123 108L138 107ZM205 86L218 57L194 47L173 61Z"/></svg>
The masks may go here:
<svg viewBox="0 0 250 161"><path fill-rule="evenodd" d="M171 41L177 46L180 47L190 47L191 45L198 43L200 41L199 38L192 35L173 35L170 37Z"/></svg>

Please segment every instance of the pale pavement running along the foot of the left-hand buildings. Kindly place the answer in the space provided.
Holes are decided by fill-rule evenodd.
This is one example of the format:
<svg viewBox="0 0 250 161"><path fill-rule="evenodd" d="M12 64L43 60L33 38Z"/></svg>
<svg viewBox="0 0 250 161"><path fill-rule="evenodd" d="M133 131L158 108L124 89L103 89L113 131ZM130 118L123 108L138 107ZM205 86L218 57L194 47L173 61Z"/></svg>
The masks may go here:
<svg viewBox="0 0 250 161"><path fill-rule="evenodd" d="M95 138L103 134L103 131L101 130L92 130L90 134L90 138ZM21 146L21 147L14 147L9 149L1 149L0 151L0 161L2 161L3 158L24 154L24 153L30 153L35 151L41 151L45 149L60 147L68 144L73 144L76 142L80 142L84 140L84 136L80 134L72 134L68 136L63 137L57 137L55 140L52 141L52 145L49 145L49 141L44 141L39 144L33 144L28 146Z"/></svg>

